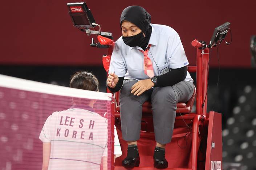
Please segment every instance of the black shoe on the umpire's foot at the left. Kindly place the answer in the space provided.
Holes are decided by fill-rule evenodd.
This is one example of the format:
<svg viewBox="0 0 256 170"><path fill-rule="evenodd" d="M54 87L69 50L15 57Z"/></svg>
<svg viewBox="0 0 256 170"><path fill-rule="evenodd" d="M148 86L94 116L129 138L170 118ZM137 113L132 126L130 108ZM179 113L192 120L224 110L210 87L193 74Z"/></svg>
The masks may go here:
<svg viewBox="0 0 256 170"><path fill-rule="evenodd" d="M136 147L131 147L127 149L127 157L122 161L122 166L124 167L134 167L139 166L139 152Z"/></svg>

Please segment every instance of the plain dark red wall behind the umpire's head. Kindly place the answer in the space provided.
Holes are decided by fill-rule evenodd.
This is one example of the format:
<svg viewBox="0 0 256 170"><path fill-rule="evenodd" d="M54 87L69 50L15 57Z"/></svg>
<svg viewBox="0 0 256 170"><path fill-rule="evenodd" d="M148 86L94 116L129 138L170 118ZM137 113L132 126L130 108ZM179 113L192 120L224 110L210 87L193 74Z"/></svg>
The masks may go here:
<svg viewBox="0 0 256 170"><path fill-rule="evenodd" d="M76 29L66 3L72 0L13 0L1 2L0 64L19 65L101 65L106 50L89 46L91 38ZM129 5L141 5L152 16L152 23L174 28L180 35L188 60L196 63L195 38L209 42L214 28L231 23L233 42L219 47L222 67L251 65L250 36L256 34L256 1L234 0L88 0L88 7L102 31L114 40L121 36L119 17ZM230 35L226 41L229 41ZM216 49L210 65L218 66Z"/></svg>

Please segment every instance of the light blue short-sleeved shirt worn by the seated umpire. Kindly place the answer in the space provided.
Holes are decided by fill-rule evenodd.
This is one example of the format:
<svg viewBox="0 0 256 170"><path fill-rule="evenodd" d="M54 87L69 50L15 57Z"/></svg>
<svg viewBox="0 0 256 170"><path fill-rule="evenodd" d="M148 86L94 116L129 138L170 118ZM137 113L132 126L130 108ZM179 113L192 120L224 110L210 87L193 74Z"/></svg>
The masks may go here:
<svg viewBox="0 0 256 170"><path fill-rule="evenodd" d="M154 75L163 75L170 68L180 68L188 65L187 56L178 33L169 26L151 24L152 33L149 39L151 44L148 56L153 63ZM141 47L127 46L120 37L114 46L111 56L109 73L115 73L125 79L143 80L150 78L144 73L144 56ZM187 72L185 81L193 82Z"/></svg>

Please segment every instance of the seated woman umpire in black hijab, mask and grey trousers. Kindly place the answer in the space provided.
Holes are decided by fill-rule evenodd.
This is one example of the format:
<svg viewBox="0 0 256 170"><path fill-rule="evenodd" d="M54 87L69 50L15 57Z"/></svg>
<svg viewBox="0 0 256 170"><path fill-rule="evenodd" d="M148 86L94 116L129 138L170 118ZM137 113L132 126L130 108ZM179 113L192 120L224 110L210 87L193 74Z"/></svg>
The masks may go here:
<svg viewBox="0 0 256 170"><path fill-rule="evenodd" d="M170 143L176 103L187 102L193 80L187 73L187 57L174 29L150 24L151 16L139 6L123 10L122 37L115 42L107 86L120 93L122 137L127 157L122 166L139 166L137 140L141 129L142 104L151 100L155 140L154 167L167 168L165 145ZM125 79L125 80L124 80Z"/></svg>

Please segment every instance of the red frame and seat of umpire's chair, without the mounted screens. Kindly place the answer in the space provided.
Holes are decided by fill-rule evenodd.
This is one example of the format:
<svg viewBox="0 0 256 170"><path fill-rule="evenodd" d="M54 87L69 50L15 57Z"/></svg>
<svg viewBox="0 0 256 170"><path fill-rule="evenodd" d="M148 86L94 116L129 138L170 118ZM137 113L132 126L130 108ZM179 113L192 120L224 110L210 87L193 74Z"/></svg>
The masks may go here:
<svg viewBox="0 0 256 170"><path fill-rule="evenodd" d="M114 41L100 35L98 40L102 45L111 46L108 55L103 56L103 66L108 71ZM205 168L208 170L210 167L222 169L221 114L214 111L207 113L206 111L209 49L207 47L202 49L203 43L197 40L192 41L191 44L197 50L197 64L196 66L188 66L188 72L196 73L196 88L188 102L177 103L172 141L166 147L166 159L169 161L169 168L167 169L181 170L180 168L183 168L184 170L196 170ZM127 144L122 140L119 92L115 93L114 96L115 101L112 114L115 116L115 126L118 130L118 138L123 152L123 156L115 161L115 169L121 170L125 169L121 166L121 161L126 155ZM195 99L196 111L191 113ZM153 168L151 167L153 163L150 162L152 159L148 159L155 146L151 103L148 101L142 106L141 138L138 141L141 164L139 167L134 167L134 169ZM142 145L143 147L140 147ZM148 147L145 147L145 145Z"/></svg>

